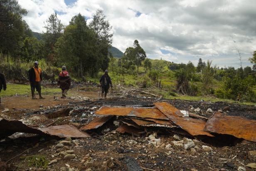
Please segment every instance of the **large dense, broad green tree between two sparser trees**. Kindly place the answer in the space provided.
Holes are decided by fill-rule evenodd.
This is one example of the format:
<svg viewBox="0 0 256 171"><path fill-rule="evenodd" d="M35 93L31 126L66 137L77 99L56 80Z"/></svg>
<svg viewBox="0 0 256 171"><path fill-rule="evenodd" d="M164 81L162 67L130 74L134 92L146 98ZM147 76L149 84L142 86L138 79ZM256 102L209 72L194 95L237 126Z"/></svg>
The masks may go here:
<svg viewBox="0 0 256 171"><path fill-rule="evenodd" d="M96 76L103 63L97 42L97 34L87 26L85 18L80 13L72 17L56 43L59 65L69 65L79 78Z"/></svg>

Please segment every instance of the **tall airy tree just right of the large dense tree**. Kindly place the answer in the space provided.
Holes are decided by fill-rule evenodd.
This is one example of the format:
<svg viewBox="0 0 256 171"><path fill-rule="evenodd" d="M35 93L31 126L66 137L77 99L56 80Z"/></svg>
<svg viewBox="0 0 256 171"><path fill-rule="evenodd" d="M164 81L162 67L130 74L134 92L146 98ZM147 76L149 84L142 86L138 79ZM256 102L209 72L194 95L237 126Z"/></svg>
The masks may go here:
<svg viewBox="0 0 256 171"><path fill-rule="evenodd" d="M111 47L113 41L113 33L111 33L112 26L109 21L106 20L103 10L97 10L89 27L96 32L99 53L103 58L101 69L104 71L108 68L108 48Z"/></svg>

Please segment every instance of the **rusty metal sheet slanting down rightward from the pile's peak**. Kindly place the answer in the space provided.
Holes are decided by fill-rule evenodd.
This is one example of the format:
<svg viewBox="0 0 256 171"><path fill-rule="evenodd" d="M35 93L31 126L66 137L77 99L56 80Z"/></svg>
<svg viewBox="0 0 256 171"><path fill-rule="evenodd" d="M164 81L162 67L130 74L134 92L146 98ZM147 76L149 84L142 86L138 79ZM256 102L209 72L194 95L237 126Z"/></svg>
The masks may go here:
<svg viewBox="0 0 256 171"><path fill-rule="evenodd" d="M191 117L184 116L180 110L168 103L154 103L154 105L167 116L173 123L178 125L193 136L207 135L213 137L212 134L204 131L206 122L204 120L198 120Z"/></svg>

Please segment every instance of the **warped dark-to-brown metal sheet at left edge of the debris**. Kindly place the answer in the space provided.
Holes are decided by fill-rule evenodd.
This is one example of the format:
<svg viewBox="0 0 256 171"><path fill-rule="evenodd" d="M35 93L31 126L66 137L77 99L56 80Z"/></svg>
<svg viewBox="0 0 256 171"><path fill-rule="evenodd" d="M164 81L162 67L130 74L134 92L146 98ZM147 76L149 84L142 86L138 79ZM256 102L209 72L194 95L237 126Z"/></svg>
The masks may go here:
<svg viewBox="0 0 256 171"><path fill-rule="evenodd" d="M88 134L79 131L76 127L72 125L60 125L54 127L46 128L31 128L23 124L18 120L0 120L0 139L3 137L8 137L15 132L24 132L29 134L39 134L39 135L55 135L58 137L74 137L74 138L84 138L89 137Z"/></svg>

